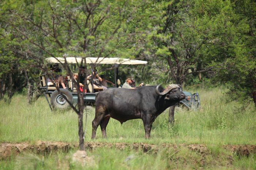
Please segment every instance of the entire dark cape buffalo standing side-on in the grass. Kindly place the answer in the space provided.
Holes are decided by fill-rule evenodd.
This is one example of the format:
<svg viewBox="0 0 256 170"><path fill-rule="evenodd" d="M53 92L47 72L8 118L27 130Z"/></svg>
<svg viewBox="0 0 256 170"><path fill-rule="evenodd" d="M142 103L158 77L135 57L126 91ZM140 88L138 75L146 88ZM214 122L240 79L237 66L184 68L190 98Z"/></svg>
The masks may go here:
<svg viewBox="0 0 256 170"><path fill-rule="evenodd" d="M165 89L160 85L135 89L108 88L96 96L91 138L95 139L99 125L103 138L106 137L106 126L110 118L114 118L120 123L131 119L142 119L145 138L149 138L152 123L157 116L166 108L178 104L182 99L185 99L185 94L178 84L170 84Z"/></svg>

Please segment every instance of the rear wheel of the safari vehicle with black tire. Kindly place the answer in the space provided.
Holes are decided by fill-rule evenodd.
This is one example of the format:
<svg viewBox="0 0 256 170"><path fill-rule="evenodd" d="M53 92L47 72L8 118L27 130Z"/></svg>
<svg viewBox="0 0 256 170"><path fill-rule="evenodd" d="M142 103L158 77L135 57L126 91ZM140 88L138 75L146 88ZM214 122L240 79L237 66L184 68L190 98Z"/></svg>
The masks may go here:
<svg viewBox="0 0 256 170"><path fill-rule="evenodd" d="M68 102L61 95L61 93L66 96L69 102L73 103L73 96L71 92L68 91L67 89L60 88L60 92L55 90L50 97L50 101L53 108L66 109L70 107Z"/></svg>

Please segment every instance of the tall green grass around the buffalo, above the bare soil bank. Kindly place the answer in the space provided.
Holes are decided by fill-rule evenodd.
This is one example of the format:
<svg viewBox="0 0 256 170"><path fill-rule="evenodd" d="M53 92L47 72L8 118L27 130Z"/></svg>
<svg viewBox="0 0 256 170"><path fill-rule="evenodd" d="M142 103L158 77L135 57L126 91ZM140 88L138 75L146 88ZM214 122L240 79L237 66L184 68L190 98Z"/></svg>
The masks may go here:
<svg viewBox="0 0 256 170"><path fill-rule="evenodd" d="M191 91L191 90L190 90ZM193 90L192 90L193 91ZM236 102L225 102L225 88L197 89L199 110L176 108L175 123L168 123L168 110L153 123L151 138L144 139L143 122L129 120L123 125L110 119L103 139L100 127L98 142L204 143L210 145L256 144L256 110L253 104L239 110ZM91 141L91 121L95 108L88 107L85 141ZM85 116L84 116L85 117ZM122 138L121 138L122 137ZM41 97L29 105L26 96L15 95L10 104L0 101L0 142L61 141L78 142L78 119L72 110L50 111Z"/></svg>

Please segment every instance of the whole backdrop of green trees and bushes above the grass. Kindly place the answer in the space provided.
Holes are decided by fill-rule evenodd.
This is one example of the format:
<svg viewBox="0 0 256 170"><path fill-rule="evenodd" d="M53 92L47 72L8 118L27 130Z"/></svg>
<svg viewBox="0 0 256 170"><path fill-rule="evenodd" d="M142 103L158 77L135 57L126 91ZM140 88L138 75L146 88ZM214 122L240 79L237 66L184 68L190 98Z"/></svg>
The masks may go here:
<svg viewBox="0 0 256 170"><path fill-rule="evenodd" d="M121 78L131 74L149 84L228 83L230 99L255 103L255 12L252 0L5 0L0 99L7 94L10 101L21 91L28 102L37 99L44 59L65 54L147 60L146 66L120 69ZM89 15L93 20L86 20ZM110 73L104 74L113 81Z"/></svg>

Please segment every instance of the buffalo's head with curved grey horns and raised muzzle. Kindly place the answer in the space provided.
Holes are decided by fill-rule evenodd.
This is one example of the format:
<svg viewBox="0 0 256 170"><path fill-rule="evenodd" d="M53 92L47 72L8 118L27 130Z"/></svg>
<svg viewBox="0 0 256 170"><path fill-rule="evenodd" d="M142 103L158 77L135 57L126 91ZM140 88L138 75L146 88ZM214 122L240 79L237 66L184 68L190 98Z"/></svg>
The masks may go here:
<svg viewBox="0 0 256 170"><path fill-rule="evenodd" d="M185 94L182 92L180 84L170 84L162 92L159 90L160 84L155 88L155 92L159 96L165 95L165 100L182 100L185 99Z"/></svg>

